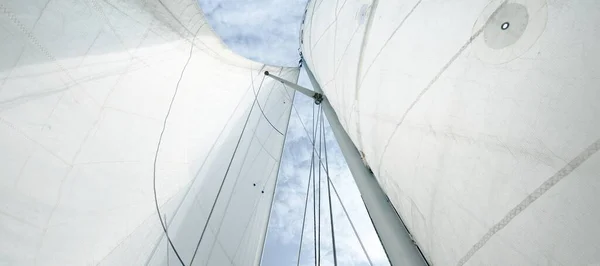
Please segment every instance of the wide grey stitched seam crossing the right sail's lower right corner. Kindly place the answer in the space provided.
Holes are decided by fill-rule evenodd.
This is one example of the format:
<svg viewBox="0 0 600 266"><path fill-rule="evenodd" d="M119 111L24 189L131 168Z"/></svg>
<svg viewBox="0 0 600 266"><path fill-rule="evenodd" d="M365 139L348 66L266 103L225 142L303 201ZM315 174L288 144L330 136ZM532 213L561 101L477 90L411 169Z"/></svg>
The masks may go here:
<svg viewBox="0 0 600 266"><path fill-rule="evenodd" d="M575 169L577 169L581 164L583 164L587 159L592 157L596 152L600 150L600 139L596 140L590 146L588 146L583 152L581 152L577 157L571 160L568 164L566 164L563 168L561 168L554 175L550 176L544 183L542 183L537 189L533 191L533 193L529 194L529 196L525 197L517 206L512 208L505 216L496 223L488 232L481 237L471 249L458 261L456 265L462 266L469 259L475 255L475 253L480 250L498 231L504 229L506 225L508 225L516 216L522 213L527 207L529 207L532 203L538 200L541 196L543 196L548 190L554 187L558 182L563 180L569 174L571 174Z"/></svg>

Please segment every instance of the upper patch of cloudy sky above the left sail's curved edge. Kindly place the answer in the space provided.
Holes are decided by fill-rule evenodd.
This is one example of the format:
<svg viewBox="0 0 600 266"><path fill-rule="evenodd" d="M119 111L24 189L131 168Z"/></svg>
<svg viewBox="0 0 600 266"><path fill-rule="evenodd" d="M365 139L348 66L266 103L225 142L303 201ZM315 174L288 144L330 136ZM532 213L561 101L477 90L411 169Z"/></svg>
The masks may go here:
<svg viewBox="0 0 600 266"><path fill-rule="evenodd" d="M235 52L272 65L296 66L307 0L200 0L207 20Z"/></svg>

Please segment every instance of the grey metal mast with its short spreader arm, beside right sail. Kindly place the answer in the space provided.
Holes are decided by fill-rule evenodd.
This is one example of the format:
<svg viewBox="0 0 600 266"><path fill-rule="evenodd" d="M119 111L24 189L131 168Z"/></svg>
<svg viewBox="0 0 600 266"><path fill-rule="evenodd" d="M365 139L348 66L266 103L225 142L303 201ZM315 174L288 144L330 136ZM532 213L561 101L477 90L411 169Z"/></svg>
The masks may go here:
<svg viewBox="0 0 600 266"><path fill-rule="evenodd" d="M327 97L323 95L319 83L306 64L304 64L304 67L314 91L273 76L268 72L265 72L265 75L313 98L315 104L322 106L390 263L402 266L427 265L408 233L404 222L389 202L387 195L379 186L373 173L363 163L360 152L342 127L333 107Z"/></svg>

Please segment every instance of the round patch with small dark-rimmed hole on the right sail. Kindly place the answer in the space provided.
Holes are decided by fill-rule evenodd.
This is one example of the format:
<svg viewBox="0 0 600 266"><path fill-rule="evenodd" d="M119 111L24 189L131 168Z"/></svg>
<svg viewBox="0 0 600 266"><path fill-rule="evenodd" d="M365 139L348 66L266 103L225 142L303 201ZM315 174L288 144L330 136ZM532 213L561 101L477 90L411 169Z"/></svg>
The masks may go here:
<svg viewBox="0 0 600 266"><path fill-rule="evenodd" d="M546 28L545 0L495 0L473 26L473 47L484 62L501 64L527 52Z"/></svg>

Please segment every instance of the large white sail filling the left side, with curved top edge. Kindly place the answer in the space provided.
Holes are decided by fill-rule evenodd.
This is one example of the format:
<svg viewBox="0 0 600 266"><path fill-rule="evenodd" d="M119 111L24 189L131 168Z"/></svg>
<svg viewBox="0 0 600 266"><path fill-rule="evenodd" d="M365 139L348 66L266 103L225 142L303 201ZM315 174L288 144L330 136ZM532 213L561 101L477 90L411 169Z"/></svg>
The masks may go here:
<svg viewBox="0 0 600 266"><path fill-rule="evenodd" d="M0 39L0 264L258 263L293 97L262 73L298 68L194 0L2 1Z"/></svg>

